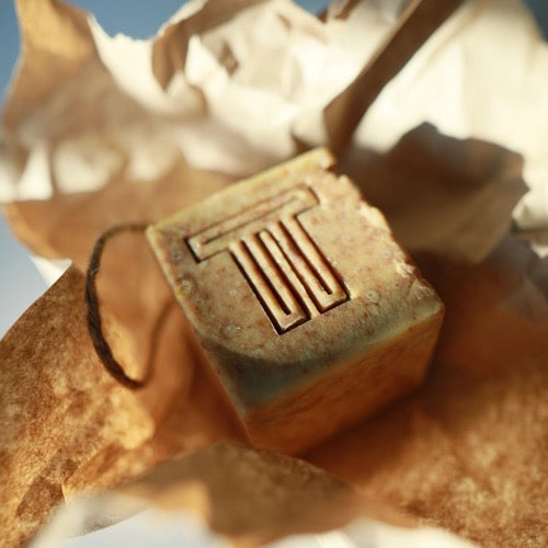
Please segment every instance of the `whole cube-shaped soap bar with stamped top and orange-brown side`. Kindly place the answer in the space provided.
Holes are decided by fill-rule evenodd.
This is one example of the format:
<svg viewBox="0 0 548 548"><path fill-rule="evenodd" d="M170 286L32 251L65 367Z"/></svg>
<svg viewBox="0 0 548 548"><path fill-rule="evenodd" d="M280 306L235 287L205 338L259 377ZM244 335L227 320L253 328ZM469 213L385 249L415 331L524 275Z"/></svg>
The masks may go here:
<svg viewBox="0 0 548 548"><path fill-rule="evenodd" d="M299 453L409 392L443 305L317 149L148 230L251 443Z"/></svg>

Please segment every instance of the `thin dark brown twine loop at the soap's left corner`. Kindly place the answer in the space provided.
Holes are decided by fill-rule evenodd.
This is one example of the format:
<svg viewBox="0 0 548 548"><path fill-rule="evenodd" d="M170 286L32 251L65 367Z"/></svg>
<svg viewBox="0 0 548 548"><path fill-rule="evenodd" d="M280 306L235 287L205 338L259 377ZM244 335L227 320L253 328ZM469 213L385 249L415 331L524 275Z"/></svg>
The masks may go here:
<svg viewBox="0 0 548 548"><path fill-rule="evenodd" d="M122 385L127 388L138 389L142 388L147 385L150 373L151 373L151 362L153 361L153 356L157 350L158 334L163 326L163 322L168 316L168 311L171 307L172 300L164 305L158 321L156 322L153 333L152 333L152 343L149 353L148 359L148 370L146 376L142 379L134 379L126 375L122 365L116 361L112 353L112 349L110 344L106 342L106 339L103 333L103 323L101 313L99 310L99 298L98 298L98 288L96 288L96 276L99 274L101 267L101 256L103 254L103 250L107 240L117 236L121 232L144 232L148 227L148 224L128 224L128 225L117 225L115 227L110 228L105 232L103 232L100 238L96 240L95 246L93 247L93 252L91 253L90 264L88 266L88 272L85 276L85 302L88 305L88 331L91 336L91 341L93 342L93 346L101 362L103 363L105 369Z"/></svg>

